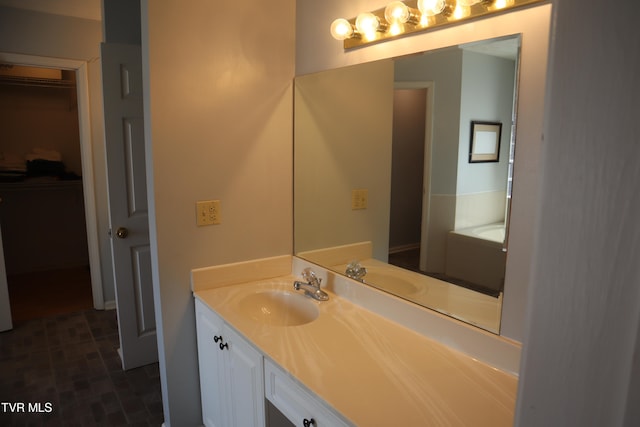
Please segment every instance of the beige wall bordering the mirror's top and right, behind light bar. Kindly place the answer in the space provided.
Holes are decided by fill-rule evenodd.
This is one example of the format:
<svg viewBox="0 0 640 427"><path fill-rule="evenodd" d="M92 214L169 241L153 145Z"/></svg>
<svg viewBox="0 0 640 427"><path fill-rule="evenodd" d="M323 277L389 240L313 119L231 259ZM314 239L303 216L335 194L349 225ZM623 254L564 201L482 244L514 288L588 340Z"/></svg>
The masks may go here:
<svg viewBox="0 0 640 427"><path fill-rule="evenodd" d="M335 18L351 18L384 4L375 0L298 0L296 20L296 75L345 65L396 57L479 39L522 33L518 103L518 130L501 334L522 341L524 311L529 288L533 229L538 199L539 159L542 145L544 88L551 6L525 8L490 19L455 25L394 41L344 52L331 38Z"/></svg>

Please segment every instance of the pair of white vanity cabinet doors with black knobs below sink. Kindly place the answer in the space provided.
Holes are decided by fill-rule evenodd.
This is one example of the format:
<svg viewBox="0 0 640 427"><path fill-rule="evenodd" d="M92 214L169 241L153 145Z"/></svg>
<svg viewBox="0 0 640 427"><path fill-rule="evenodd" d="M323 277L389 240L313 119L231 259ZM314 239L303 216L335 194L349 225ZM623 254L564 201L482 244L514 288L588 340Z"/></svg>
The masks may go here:
<svg viewBox="0 0 640 427"><path fill-rule="evenodd" d="M262 354L196 299L202 418L207 427L264 427Z"/></svg>

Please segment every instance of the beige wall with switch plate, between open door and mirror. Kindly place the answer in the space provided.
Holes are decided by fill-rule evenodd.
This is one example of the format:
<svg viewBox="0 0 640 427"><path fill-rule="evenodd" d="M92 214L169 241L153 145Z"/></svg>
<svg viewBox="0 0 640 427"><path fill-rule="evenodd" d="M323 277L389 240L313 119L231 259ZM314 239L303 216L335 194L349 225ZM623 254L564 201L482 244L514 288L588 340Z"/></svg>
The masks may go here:
<svg viewBox="0 0 640 427"><path fill-rule="evenodd" d="M143 1L165 422L201 423L193 268L292 252L295 2ZM152 163L151 163L152 162ZM197 200L222 224L196 226Z"/></svg>

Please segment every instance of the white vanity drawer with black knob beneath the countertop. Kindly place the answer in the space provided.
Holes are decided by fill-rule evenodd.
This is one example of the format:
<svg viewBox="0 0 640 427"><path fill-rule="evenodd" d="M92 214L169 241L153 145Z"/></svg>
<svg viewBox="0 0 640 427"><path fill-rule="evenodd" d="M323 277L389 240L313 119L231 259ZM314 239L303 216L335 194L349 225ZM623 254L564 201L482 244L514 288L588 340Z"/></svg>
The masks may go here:
<svg viewBox="0 0 640 427"><path fill-rule="evenodd" d="M313 420L314 427L350 425L267 359L264 374L265 397L294 425L302 427L305 420Z"/></svg>

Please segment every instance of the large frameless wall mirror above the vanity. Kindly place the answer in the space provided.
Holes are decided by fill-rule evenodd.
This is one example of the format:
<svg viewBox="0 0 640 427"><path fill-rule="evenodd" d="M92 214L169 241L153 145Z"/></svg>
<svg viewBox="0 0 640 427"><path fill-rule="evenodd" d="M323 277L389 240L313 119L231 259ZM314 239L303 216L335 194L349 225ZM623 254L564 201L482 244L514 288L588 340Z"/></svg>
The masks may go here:
<svg viewBox="0 0 640 427"><path fill-rule="evenodd" d="M499 333L520 35L296 78L295 253Z"/></svg>

